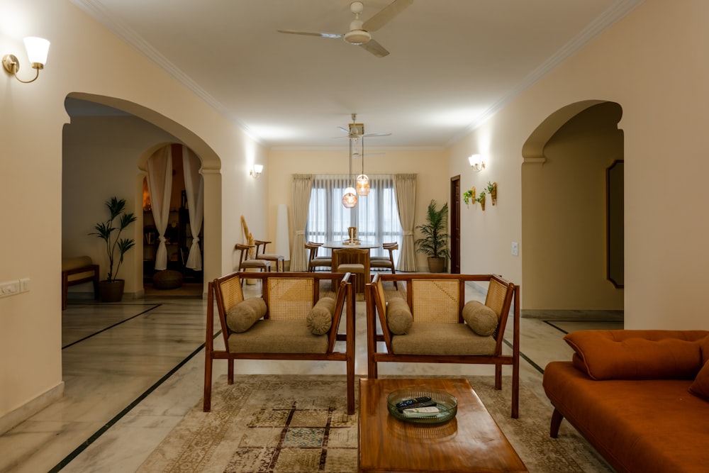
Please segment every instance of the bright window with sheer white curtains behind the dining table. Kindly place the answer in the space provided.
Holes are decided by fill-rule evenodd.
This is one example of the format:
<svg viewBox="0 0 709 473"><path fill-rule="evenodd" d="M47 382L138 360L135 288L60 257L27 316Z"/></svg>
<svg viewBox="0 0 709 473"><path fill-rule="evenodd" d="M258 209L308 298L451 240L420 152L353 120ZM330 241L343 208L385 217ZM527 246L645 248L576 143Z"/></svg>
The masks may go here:
<svg viewBox="0 0 709 473"><path fill-rule="evenodd" d="M360 240L401 243L393 176L369 175L369 195L357 196L357 206L345 208L342 194L351 183L348 174L316 174L308 208L306 241L347 240L347 227L357 227ZM325 252L325 248L321 251ZM384 256L384 250L374 249L372 256Z"/></svg>

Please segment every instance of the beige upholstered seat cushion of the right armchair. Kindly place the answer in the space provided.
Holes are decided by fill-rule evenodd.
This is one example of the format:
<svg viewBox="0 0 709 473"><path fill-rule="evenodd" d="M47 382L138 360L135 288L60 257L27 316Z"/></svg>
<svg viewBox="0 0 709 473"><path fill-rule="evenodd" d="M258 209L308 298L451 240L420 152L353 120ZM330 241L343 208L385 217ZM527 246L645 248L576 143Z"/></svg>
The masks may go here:
<svg viewBox="0 0 709 473"><path fill-rule="evenodd" d="M476 335L464 323L414 322L406 335L391 338L396 355L495 355L496 340Z"/></svg>

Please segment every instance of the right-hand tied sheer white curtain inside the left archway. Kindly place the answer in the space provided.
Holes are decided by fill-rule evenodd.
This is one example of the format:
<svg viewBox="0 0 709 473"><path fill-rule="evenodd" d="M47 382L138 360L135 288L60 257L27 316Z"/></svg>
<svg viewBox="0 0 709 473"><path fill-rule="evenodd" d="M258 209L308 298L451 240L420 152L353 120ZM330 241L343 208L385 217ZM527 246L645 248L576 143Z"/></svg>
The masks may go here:
<svg viewBox="0 0 709 473"><path fill-rule="evenodd" d="M202 229L204 216L204 179L199 174L202 162L197 155L186 146L182 146L182 168L184 169L184 188L187 194L187 211L189 212L189 228L192 233L192 245L185 267L202 270L202 255L199 249L199 232Z"/></svg>

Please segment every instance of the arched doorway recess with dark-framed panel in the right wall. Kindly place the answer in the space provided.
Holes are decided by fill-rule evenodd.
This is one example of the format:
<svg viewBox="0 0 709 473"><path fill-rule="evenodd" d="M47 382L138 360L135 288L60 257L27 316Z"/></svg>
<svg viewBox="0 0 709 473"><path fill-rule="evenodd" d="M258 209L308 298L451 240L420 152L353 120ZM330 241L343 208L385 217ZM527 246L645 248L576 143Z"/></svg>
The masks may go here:
<svg viewBox="0 0 709 473"><path fill-rule="evenodd" d="M582 101L552 113L523 146L525 313L623 310L606 274L606 169L623 160L623 110Z"/></svg>

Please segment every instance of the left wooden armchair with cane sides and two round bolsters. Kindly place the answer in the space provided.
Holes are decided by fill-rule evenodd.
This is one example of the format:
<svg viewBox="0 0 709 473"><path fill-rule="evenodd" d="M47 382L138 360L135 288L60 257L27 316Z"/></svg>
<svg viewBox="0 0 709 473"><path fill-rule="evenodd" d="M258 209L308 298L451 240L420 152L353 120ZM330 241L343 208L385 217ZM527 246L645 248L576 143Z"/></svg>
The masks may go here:
<svg viewBox="0 0 709 473"><path fill-rule="evenodd" d="M261 279L262 297L245 299L242 279ZM318 304L320 283L330 280L339 284L336 299L323 298ZM225 350L213 346L215 306ZM331 316L329 328L313 323L311 315L322 316L324 307ZM343 309L346 333L340 334ZM242 317L245 313L255 313L250 327ZM227 360L228 384L234 382L234 360L321 360L345 362L347 413L354 413L354 296L349 273L235 272L214 279L208 284L205 340L205 412L211 409L213 360ZM344 351L341 346L336 350L338 341L345 342Z"/></svg>

